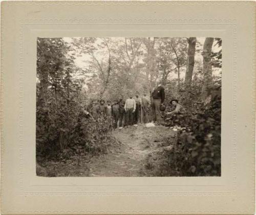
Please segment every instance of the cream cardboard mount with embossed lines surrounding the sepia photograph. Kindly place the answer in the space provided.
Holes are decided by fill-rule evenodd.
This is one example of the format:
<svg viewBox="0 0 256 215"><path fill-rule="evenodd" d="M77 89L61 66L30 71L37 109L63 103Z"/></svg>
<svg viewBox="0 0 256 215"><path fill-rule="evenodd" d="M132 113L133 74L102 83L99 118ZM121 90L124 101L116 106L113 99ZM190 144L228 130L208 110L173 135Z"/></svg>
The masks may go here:
<svg viewBox="0 0 256 215"><path fill-rule="evenodd" d="M1 4L2 214L253 214L255 3ZM222 38L221 177L38 177L37 37Z"/></svg>

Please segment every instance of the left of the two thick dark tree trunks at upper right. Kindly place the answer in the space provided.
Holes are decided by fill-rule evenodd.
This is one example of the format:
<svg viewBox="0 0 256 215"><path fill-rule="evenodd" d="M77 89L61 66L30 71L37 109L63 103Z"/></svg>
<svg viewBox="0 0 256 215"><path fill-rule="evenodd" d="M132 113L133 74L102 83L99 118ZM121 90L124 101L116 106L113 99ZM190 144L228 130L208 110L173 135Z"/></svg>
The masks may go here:
<svg viewBox="0 0 256 215"><path fill-rule="evenodd" d="M195 64L195 52L196 52L196 37L188 38L188 51L187 51L187 67L185 74L185 85L186 87L191 86L194 64Z"/></svg>

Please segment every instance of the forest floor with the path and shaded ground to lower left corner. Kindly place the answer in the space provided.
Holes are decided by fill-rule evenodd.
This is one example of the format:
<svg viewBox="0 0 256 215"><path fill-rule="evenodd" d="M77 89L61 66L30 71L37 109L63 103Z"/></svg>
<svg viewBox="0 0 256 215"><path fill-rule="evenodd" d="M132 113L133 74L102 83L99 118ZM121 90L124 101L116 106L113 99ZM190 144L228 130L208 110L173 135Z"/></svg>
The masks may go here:
<svg viewBox="0 0 256 215"><path fill-rule="evenodd" d="M79 155L68 159L37 163L38 176L65 177L137 177L148 176L147 165L161 159L164 150L173 147L176 132L157 125L147 128L144 124L112 131L116 144L106 154ZM167 140L167 141L166 141ZM147 158L150 158L148 161ZM148 163L149 162L149 163ZM154 175L154 173L153 173ZM152 174L151 174L152 176Z"/></svg>

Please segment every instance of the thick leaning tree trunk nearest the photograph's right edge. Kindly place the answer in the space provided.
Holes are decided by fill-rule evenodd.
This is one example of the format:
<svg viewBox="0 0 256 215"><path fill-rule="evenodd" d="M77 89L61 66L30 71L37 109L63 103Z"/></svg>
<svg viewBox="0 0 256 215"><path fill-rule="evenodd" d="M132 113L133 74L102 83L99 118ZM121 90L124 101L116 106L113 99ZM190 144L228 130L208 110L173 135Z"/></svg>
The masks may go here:
<svg viewBox="0 0 256 215"><path fill-rule="evenodd" d="M208 97L208 89L212 86L212 70L211 70L211 47L214 43L214 38L207 37L203 47L203 86L201 99L205 100Z"/></svg>

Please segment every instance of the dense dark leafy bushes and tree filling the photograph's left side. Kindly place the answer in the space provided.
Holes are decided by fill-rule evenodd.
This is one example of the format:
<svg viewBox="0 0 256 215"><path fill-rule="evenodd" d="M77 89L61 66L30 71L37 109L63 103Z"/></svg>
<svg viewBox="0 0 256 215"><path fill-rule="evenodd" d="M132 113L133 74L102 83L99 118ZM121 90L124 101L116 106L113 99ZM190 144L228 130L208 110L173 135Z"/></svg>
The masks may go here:
<svg viewBox="0 0 256 215"><path fill-rule="evenodd" d="M105 118L97 121L84 111L82 81L72 75L78 70L68 44L60 38L37 39L36 155L58 159L78 152L106 152L112 139ZM61 152L64 152L62 154ZM71 154L69 154L71 156ZM67 157L68 159L68 157Z"/></svg>

